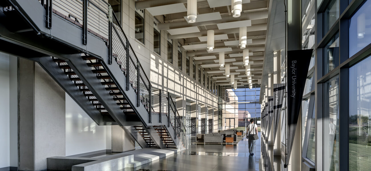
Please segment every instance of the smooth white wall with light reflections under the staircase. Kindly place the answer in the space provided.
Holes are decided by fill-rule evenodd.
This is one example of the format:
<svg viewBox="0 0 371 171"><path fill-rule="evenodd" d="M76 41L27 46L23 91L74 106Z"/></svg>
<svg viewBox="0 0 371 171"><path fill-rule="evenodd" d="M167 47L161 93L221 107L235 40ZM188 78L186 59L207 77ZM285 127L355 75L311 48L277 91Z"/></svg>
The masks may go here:
<svg viewBox="0 0 371 171"><path fill-rule="evenodd" d="M98 126L66 94L66 156L111 149L111 126Z"/></svg>

